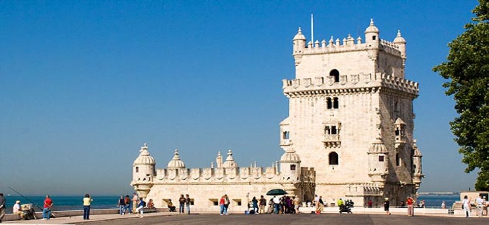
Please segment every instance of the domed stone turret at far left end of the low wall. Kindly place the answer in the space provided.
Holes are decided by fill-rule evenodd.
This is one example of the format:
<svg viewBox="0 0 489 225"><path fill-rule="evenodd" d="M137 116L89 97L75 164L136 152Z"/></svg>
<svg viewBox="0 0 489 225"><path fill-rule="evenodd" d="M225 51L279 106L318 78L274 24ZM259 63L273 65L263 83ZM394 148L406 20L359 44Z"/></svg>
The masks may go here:
<svg viewBox="0 0 489 225"><path fill-rule="evenodd" d="M156 163L154 158L150 156L146 143L141 147L139 152L138 158L132 164L131 185L138 192L139 196L146 198L146 195L153 186L153 177L156 175L154 166Z"/></svg>

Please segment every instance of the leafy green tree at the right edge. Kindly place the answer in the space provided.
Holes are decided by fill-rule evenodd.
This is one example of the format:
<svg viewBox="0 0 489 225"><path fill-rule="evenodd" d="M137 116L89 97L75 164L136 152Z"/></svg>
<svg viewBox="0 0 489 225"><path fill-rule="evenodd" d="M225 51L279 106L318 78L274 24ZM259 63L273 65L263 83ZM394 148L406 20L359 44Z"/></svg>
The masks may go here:
<svg viewBox="0 0 489 225"><path fill-rule="evenodd" d="M489 190L489 0L479 0L466 31L451 41L447 61L433 71L448 79L445 94L453 95L459 117L450 122L455 142L467 164L479 169L475 188Z"/></svg>

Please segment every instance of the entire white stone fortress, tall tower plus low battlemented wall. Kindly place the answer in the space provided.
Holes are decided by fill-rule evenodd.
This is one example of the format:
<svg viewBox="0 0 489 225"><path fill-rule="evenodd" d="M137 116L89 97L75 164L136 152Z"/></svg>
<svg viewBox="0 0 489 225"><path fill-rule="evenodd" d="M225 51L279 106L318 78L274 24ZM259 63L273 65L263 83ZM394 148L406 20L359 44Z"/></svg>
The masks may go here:
<svg viewBox="0 0 489 225"><path fill-rule="evenodd" d="M155 170L147 146L133 164L131 185L156 206L174 204L189 194L195 205L215 205L228 194L236 205L274 188L303 201L314 194L333 204L380 205L385 197L399 204L416 196L424 176L421 152L413 137L413 100L418 83L404 79L406 41L379 39L373 20L365 42L311 41L299 29L293 39L295 79L283 80L289 117L280 123L280 163L238 167L229 150L210 168L186 168L178 151L167 168ZM152 157L151 157L152 158Z"/></svg>

